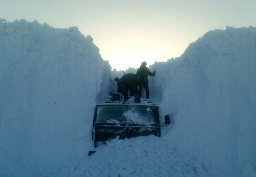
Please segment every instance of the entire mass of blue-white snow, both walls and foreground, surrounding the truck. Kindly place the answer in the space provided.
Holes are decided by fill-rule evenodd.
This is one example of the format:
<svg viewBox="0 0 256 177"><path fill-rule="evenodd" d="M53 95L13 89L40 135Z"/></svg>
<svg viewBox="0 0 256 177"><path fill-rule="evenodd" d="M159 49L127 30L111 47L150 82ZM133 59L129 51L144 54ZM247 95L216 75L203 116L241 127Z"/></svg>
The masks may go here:
<svg viewBox="0 0 256 177"><path fill-rule="evenodd" d="M87 156L93 107L123 71L76 27L1 19L0 176L255 177L256 28L210 31L149 70L150 99L172 124Z"/></svg>

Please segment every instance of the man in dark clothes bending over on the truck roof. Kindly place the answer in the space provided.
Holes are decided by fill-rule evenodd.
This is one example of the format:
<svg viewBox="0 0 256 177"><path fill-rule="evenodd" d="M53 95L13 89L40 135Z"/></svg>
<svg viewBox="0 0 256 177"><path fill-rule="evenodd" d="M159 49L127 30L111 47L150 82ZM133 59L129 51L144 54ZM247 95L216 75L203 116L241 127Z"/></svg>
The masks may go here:
<svg viewBox="0 0 256 177"><path fill-rule="evenodd" d="M129 99L128 90L133 93L133 96L137 97L137 86L139 85L137 74L127 73L120 79L115 78L115 81L117 82L117 92L124 95L124 102Z"/></svg>

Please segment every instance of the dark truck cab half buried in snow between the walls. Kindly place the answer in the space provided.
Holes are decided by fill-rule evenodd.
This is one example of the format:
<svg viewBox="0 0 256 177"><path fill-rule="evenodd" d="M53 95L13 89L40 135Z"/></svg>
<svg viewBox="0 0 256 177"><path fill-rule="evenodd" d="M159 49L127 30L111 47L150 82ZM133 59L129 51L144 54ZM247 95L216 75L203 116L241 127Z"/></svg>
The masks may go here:
<svg viewBox="0 0 256 177"><path fill-rule="evenodd" d="M95 106L94 147L106 141L137 136L161 136L158 106L153 103L99 103Z"/></svg>

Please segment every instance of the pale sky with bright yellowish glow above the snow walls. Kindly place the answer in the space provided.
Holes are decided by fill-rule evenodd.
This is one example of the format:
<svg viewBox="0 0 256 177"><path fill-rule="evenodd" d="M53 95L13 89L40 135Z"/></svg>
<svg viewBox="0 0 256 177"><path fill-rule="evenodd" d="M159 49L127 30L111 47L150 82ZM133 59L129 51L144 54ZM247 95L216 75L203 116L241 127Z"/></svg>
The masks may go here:
<svg viewBox="0 0 256 177"><path fill-rule="evenodd" d="M191 42L226 26L256 26L255 0L0 0L0 18L91 35L112 69L179 57Z"/></svg>

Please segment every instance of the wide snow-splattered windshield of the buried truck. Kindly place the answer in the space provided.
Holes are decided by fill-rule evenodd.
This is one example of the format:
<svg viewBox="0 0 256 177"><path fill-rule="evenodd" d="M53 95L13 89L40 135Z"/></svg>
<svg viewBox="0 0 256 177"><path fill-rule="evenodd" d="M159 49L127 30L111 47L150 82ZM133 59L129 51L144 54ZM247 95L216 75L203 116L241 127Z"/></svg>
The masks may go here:
<svg viewBox="0 0 256 177"><path fill-rule="evenodd" d="M158 123L158 108L144 105L102 105L97 108L96 122Z"/></svg>

